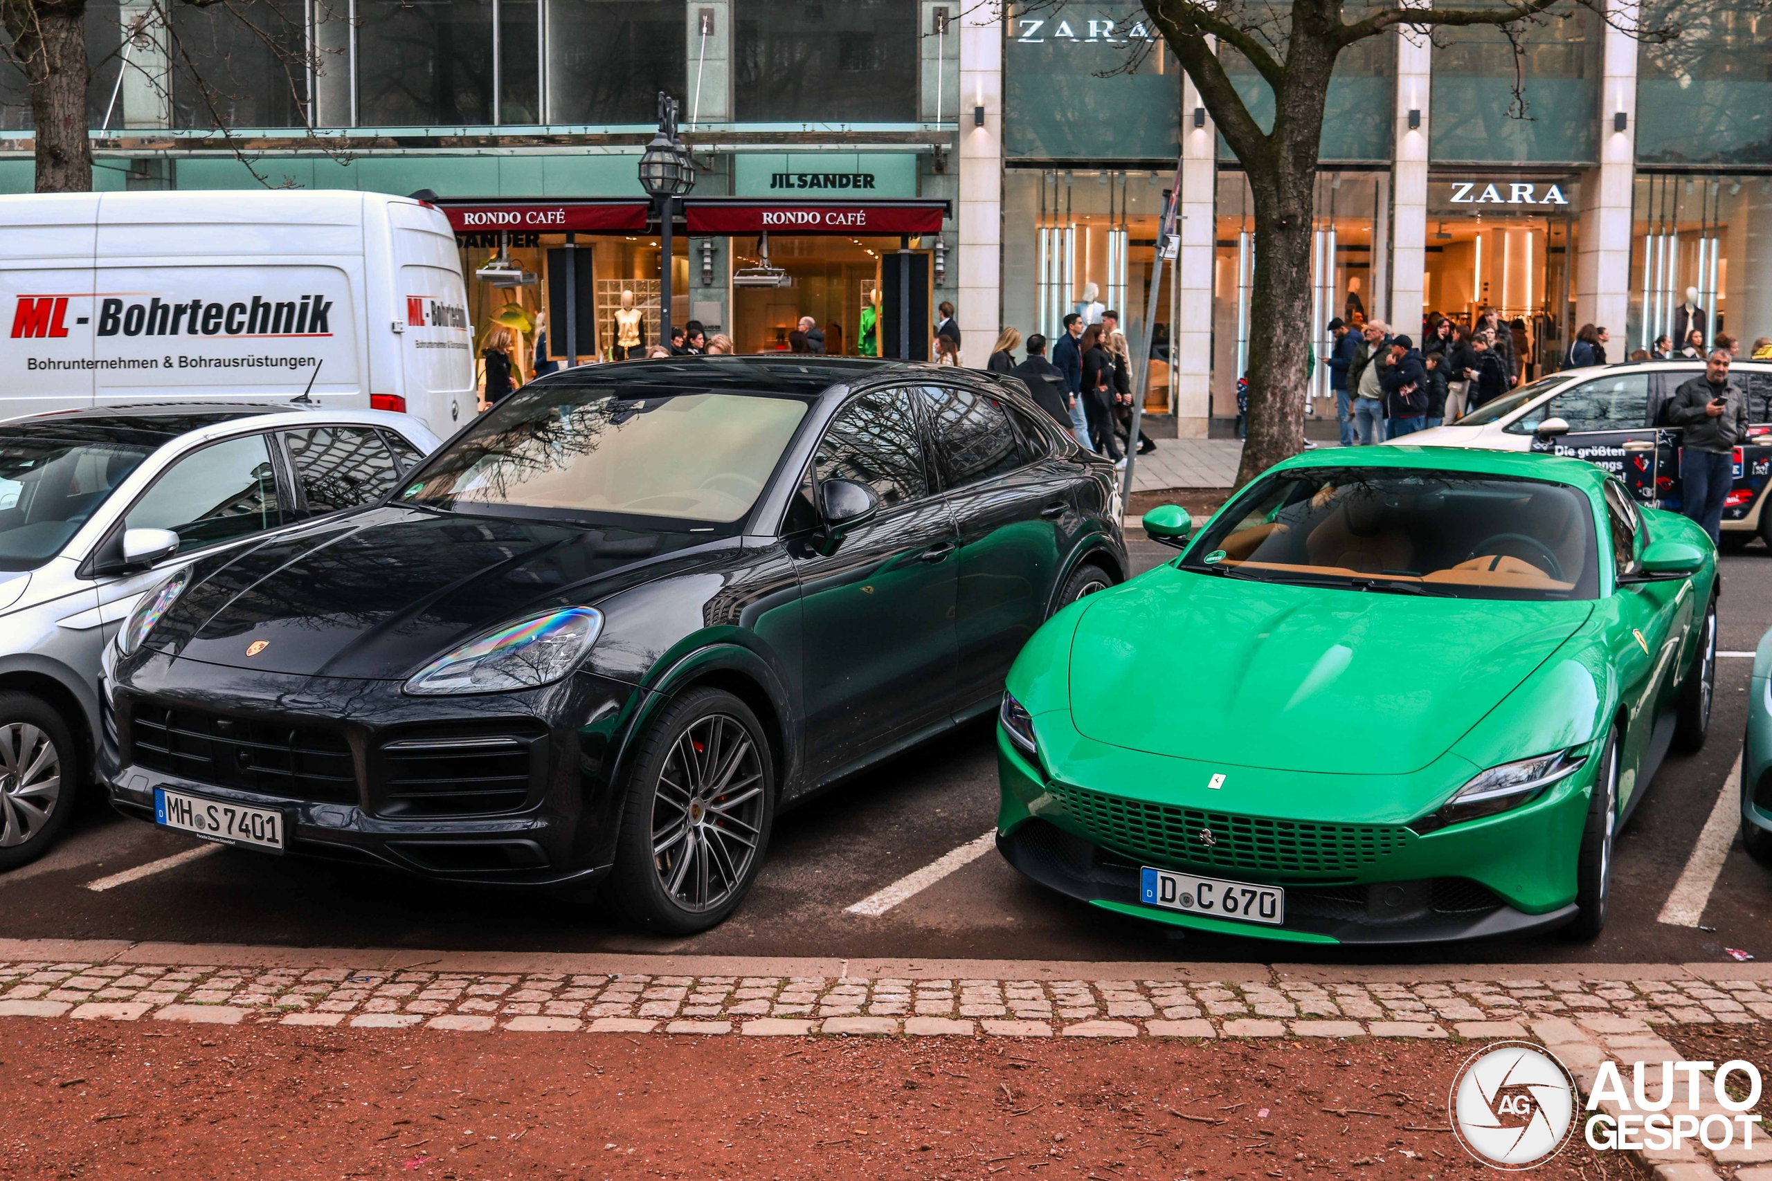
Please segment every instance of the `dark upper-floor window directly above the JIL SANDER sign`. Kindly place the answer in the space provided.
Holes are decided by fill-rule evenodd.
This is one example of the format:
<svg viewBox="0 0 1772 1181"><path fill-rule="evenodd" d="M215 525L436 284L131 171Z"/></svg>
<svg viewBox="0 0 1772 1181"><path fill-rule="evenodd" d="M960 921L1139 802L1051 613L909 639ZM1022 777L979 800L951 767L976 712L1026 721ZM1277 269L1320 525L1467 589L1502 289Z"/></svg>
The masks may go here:
<svg viewBox="0 0 1772 1181"><path fill-rule="evenodd" d="M735 0L739 122L913 122L918 5ZM677 37L682 42L682 35Z"/></svg>

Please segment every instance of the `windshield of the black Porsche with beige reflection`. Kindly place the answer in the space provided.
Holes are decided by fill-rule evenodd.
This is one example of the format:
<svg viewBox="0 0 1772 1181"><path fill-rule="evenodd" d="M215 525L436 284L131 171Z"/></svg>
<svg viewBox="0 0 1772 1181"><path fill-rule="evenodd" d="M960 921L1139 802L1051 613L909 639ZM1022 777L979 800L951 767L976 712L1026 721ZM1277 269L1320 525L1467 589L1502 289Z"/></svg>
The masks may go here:
<svg viewBox="0 0 1772 1181"><path fill-rule="evenodd" d="M801 398L537 386L418 471L408 505L730 524L806 416Z"/></svg>

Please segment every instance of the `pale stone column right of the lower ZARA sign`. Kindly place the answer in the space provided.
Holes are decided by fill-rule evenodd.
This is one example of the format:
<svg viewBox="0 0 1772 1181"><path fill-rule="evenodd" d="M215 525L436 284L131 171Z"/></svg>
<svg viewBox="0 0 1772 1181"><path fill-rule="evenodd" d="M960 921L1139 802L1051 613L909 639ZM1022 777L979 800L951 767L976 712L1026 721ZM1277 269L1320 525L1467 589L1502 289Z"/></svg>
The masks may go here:
<svg viewBox="0 0 1772 1181"><path fill-rule="evenodd" d="M1634 0L1613 0L1611 11L1636 16ZM1581 177L1581 225L1575 243L1575 324L1611 329L1607 356L1623 361L1630 343L1630 197L1637 156L1637 42L1628 32L1605 27L1600 67L1600 166ZM1614 131L1625 115L1625 129Z"/></svg>

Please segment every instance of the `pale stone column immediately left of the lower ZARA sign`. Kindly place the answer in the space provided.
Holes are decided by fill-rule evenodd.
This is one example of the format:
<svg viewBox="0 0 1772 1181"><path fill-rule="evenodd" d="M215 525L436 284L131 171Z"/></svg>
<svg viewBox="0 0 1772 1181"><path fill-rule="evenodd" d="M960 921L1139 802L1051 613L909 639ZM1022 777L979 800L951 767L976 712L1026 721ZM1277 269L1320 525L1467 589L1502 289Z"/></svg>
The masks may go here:
<svg viewBox="0 0 1772 1181"><path fill-rule="evenodd" d="M1428 99L1434 44L1426 34L1396 30L1396 127L1391 133L1391 296L1380 305L1395 331L1416 336L1426 312ZM1411 127L1419 112L1419 127ZM1377 294L1377 292L1375 292ZM1338 296L1340 297L1340 296Z"/></svg>

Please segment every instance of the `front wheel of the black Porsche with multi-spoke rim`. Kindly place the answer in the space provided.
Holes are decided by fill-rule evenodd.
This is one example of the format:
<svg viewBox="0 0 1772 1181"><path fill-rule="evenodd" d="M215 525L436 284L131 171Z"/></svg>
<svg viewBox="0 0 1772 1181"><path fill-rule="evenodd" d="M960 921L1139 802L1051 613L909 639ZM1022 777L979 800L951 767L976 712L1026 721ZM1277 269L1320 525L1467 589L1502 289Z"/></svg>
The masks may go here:
<svg viewBox="0 0 1772 1181"><path fill-rule="evenodd" d="M757 880L773 820L774 767L757 715L730 692L691 689L634 753L610 899L649 931L718 926Z"/></svg>

